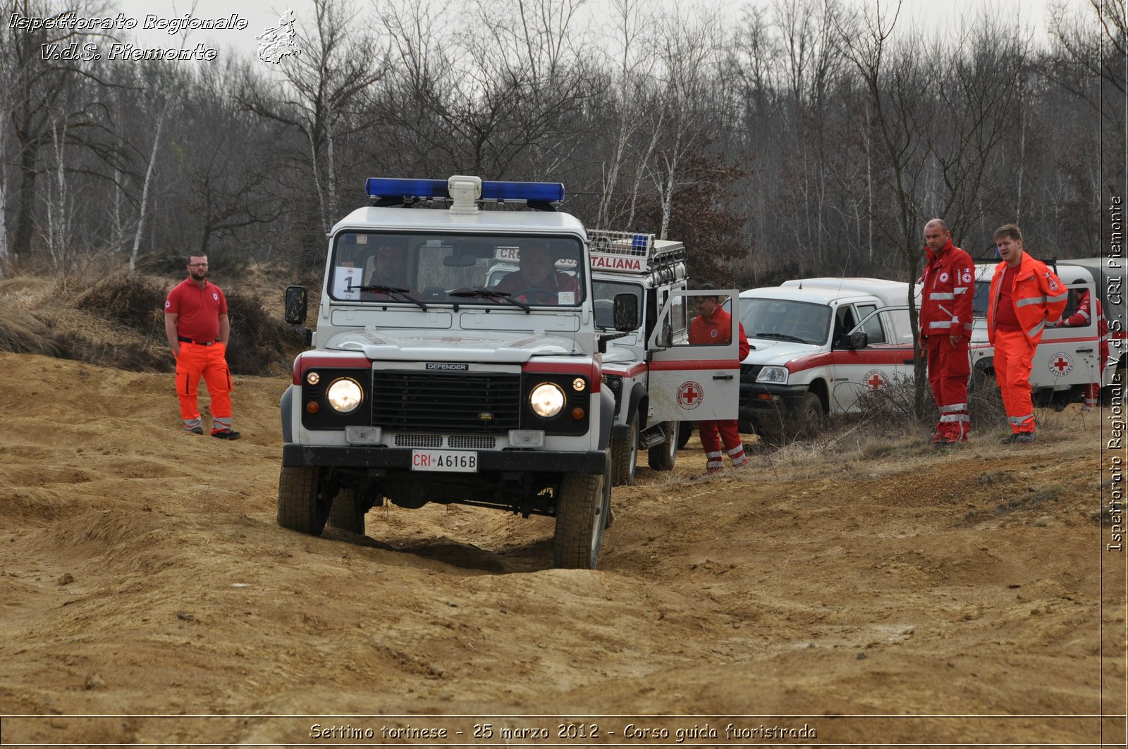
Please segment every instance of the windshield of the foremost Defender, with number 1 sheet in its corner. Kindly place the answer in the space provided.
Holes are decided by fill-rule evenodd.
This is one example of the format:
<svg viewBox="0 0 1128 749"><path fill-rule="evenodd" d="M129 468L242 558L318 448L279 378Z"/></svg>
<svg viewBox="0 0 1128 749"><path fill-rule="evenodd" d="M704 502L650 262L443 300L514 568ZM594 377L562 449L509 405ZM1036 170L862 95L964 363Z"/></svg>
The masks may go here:
<svg viewBox="0 0 1128 749"><path fill-rule="evenodd" d="M582 256L570 237L343 231L328 292L381 305L576 307Z"/></svg>

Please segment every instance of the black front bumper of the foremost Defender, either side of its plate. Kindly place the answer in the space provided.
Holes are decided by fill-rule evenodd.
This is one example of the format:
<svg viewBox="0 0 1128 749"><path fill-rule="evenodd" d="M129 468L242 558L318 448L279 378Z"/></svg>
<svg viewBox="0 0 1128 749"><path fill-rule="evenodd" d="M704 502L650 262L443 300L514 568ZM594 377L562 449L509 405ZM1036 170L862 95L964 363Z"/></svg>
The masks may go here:
<svg viewBox="0 0 1128 749"><path fill-rule="evenodd" d="M607 466L607 453L601 450L585 452L478 450L477 455L478 473L519 470L522 473L602 475ZM412 449L287 443L282 446L282 465L411 470Z"/></svg>

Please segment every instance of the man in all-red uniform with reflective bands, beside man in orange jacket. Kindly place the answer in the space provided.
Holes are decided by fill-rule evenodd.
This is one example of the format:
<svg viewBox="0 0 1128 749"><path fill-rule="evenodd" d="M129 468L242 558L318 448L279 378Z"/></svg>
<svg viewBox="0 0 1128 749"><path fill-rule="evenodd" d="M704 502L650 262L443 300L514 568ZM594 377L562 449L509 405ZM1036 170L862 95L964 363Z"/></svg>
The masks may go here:
<svg viewBox="0 0 1128 749"><path fill-rule="evenodd" d="M971 364L971 301L976 266L971 256L952 244L952 232L940 219L924 226L927 262L920 276L920 337L928 359L928 385L940 421L935 447L968 441L968 376Z"/></svg>

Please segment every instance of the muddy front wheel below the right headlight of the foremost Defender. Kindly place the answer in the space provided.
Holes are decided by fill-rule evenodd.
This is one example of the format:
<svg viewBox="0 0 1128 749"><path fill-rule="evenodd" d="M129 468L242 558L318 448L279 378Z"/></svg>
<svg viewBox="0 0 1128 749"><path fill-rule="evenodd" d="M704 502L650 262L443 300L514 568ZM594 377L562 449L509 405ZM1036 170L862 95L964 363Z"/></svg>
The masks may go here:
<svg viewBox="0 0 1128 749"><path fill-rule="evenodd" d="M556 499L553 564L565 570L594 570L610 512L610 456L602 476L566 474Z"/></svg>

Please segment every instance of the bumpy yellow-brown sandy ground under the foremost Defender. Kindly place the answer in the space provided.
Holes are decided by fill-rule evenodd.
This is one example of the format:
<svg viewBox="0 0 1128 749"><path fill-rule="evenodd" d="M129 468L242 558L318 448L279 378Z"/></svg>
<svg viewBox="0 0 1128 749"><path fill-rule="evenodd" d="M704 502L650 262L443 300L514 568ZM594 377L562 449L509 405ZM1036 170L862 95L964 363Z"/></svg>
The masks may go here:
<svg viewBox="0 0 1128 749"><path fill-rule="evenodd" d="M223 442L179 431L170 374L0 374L5 744L1123 743L1108 408L704 481L694 439L615 490L598 571L561 571L545 518L279 528L284 380L238 379Z"/></svg>

